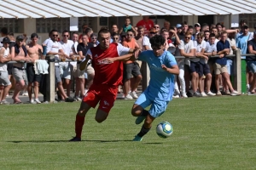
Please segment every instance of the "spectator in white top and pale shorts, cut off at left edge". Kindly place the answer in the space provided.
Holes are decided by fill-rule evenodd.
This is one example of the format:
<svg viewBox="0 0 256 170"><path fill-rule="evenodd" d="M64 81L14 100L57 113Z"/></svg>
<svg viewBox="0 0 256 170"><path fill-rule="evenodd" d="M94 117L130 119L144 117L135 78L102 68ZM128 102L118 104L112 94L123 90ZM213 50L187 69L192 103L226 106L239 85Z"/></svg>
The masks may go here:
<svg viewBox="0 0 256 170"><path fill-rule="evenodd" d="M9 102L5 99L9 93L9 89L12 87L12 84L9 81L6 64L6 62L11 60L9 54L9 37L4 37L1 43L3 44L3 47L0 48L0 104L9 105Z"/></svg>

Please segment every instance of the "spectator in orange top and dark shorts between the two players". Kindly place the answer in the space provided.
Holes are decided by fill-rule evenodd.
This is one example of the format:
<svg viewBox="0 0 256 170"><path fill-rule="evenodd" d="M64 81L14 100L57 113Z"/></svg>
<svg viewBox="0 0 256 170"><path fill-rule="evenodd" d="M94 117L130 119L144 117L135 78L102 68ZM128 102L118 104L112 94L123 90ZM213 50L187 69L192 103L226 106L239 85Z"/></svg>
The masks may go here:
<svg viewBox="0 0 256 170"><path fill-rule="evenodd" d="M140 48L134 38L134 32L128 30L126 34L125 42L123 46L126 48ZM135 77L135 81L131 84L131 78ZM132 60L127 60L124 62L124 95L125 99L137 99L137 94L135 92L139 82L142 80L142 73L140 71L139 65L137 62ZM131 94L129 93L129 88L131 88Z"/></svg>

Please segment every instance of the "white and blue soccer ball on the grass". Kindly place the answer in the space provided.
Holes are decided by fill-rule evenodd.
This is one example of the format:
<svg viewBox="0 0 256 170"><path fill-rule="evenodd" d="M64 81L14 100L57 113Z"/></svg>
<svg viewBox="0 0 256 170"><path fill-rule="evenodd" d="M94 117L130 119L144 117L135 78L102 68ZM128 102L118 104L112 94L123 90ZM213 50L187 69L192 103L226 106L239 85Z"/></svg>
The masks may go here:
<svg viewBox="0 0 256 170"><path fill-rule="evenodd" d="M156 126L156 133L160 138L166 139L172 135L173 128L170 122L160 122Z"/></svg>

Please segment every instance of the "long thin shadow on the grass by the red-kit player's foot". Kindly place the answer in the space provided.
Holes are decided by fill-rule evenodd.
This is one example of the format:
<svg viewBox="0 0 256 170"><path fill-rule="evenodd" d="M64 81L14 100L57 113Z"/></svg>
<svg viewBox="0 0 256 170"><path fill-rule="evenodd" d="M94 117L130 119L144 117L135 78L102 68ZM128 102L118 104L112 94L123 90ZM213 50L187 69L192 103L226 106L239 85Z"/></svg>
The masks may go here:
<svg viewBox="0 0 256 170"><path fill-rule="evenodd" d="M15 144L19 143L62 143L69 142L68 140L15 140L15 141L7 141ZM132 142L132 140L82 140L80 142L97 142L97 143L113 143L113 142ZM73 143L73 142L70 142Z"/></svg>

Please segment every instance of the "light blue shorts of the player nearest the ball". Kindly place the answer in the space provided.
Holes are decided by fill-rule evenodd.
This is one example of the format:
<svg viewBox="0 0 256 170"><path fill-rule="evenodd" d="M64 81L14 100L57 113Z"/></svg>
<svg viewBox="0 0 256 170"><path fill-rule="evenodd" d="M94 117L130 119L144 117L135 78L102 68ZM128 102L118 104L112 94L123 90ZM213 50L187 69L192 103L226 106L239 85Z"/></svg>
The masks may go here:
<svg viewBox="0 0 256 170"><path fill-rule="evenodd" d="M153 117L161 116L166 111L168 103L169 101L160 99L149 99L147 92L143 92L135 102L136 105L142 106L143 109L151 105L148 112Z"/></svg>

